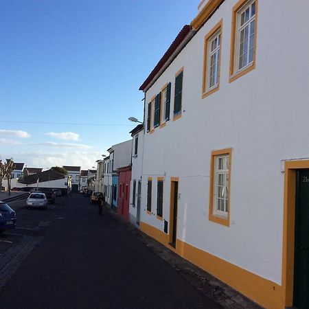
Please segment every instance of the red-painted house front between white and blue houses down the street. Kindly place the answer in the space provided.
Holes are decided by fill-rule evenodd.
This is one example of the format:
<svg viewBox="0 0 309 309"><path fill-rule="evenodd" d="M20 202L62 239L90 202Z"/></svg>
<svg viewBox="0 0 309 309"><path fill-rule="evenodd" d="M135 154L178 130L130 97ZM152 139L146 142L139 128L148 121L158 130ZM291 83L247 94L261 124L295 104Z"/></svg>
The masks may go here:
<svg viewBox="0 0 309 309"><path fill-rule="evenodd" d="M130 203L130 181L131 181L131 165L118 168L118 207L117 213L125 220L129 220L129 203Z"/></svg>

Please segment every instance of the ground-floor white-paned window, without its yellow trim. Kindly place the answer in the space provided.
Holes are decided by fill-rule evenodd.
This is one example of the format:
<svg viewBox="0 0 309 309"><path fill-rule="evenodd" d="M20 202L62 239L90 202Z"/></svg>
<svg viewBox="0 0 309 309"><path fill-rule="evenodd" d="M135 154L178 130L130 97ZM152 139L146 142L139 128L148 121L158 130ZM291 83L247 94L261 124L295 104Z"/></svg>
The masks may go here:
<svg viewBox="0 0 309 309"><path fill-rule="evenodd" d="M229 212L229 154L214 159L214 214L227 217Z"/></svg>

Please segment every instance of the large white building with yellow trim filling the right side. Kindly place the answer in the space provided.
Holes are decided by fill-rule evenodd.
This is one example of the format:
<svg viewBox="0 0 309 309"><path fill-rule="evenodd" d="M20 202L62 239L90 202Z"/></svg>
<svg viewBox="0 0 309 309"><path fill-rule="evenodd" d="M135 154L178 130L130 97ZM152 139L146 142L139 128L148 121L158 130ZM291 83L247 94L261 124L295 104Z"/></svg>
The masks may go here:
<svg viewBox="0 0 309 309"><path fill-rule="evenodd" d="M203 0L140 88L141 230L266 308L309 308L308 11Z"/></svg>

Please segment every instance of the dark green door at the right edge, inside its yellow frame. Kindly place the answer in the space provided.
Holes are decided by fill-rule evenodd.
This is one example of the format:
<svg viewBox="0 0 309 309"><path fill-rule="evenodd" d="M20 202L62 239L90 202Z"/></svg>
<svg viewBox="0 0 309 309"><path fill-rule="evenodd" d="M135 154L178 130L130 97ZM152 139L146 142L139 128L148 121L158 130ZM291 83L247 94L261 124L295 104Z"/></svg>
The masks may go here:
<svg viewBox="0 0 309 309"><path fill-rule="evenodd" d="M309 170L297 172L294 304L309 308Z"/></svg>

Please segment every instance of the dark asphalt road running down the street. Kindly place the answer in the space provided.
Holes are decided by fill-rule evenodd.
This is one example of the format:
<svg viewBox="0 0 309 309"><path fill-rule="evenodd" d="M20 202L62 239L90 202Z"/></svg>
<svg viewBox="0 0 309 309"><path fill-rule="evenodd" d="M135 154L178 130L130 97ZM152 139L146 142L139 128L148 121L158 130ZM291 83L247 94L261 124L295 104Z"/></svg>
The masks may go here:
<svg viewBox="0 0 309 309"><path fill-rule="evenodd" d="M220 308L88 198L22 209L19 220L32 251L2 288L1 309Z"/></svg>

